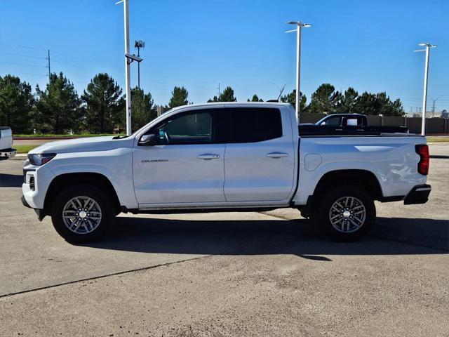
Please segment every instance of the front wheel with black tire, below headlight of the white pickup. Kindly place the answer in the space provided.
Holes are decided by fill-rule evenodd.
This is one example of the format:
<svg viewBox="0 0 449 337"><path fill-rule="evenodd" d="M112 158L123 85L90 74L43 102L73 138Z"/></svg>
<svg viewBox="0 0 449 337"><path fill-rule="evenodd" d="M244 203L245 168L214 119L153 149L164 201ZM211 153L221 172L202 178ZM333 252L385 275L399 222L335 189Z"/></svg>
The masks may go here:
<svg viewBox="0 0 449 337"><path fill-rule="evenodd" d="M95 185L72 185L62 190L51 211L55 230L67 242L81 244L102 237L114 220L114 207Z"/></svg>

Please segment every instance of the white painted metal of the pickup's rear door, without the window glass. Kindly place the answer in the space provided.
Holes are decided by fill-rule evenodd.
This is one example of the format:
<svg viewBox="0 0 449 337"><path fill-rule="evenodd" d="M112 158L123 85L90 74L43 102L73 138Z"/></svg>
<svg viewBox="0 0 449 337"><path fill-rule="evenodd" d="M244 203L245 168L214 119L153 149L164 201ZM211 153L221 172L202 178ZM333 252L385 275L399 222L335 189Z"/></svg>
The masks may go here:
<svg viewBox="0 0 449 337"><path fill-rule="evenodd" d="M225 196L227 201L254 201L255 203L276 201L281 204L290 202L297 176L297 133L294 141L292 128L296 120L290 119L291 114L292 110L281 109L283 133L281 138L257 143L226 145ZM267 157L270 154L286 157Z"/></svg>

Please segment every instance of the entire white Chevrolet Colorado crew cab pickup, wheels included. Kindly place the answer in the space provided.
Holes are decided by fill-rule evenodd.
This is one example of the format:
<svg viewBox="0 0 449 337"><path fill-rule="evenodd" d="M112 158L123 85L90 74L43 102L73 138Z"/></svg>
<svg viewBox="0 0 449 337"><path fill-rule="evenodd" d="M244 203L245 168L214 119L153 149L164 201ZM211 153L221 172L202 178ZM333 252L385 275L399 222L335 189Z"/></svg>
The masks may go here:
<svg viewBox="0 0 449 337"><path fill-rule="evenodd" d="M375 200L423 204L429 150L407 133L300 136L286 103L176 107L131 136L36 147L22 203L68 242L121 213L300 209L337 239L366 234Z"/></svg>

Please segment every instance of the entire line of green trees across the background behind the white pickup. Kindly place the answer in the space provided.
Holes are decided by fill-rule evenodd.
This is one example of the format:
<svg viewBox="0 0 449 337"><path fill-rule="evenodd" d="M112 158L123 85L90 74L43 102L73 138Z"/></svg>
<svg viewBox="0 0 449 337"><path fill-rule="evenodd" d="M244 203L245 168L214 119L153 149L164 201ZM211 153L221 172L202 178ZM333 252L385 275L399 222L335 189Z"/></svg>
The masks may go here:
<svg viewBox="0 0 449 337"><path fill-rule="evenodd" d="M192 104L183 86L175 86L166 107ZM296 92L281 96L281 101L295 105ZM210 102L236 102L234 89L227 86ZM248 102L262 102L254 94ZM132 129L137 130L156 118L156 105L151 93L135 87L131 89L133 107ZM358 94L349 87L344 93L335 91L331 84L321 84L311 95L310 103L300 93L301 112L383 114L401 116L401 100L391 101L386 93ZM45 88L32 87L19 77L7 74L0 77L0 125L11 126L14 133L112 133L126 125L125 98L119 84L109 76L95 75L81 95L67 77L51 74Z"/></svg>

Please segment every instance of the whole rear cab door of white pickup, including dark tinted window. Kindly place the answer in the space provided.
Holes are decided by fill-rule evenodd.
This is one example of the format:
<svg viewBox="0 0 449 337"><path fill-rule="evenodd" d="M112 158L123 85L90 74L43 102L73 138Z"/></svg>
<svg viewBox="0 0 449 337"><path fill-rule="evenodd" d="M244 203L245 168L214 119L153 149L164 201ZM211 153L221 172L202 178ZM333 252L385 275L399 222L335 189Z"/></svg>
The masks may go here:
<svg viewBox="0 0 449 337"><path fill-rule="evenodd" d="M236 201L286 201L293 192L295 150L288 111L226 107L229 140L225 196Z"/></svg>

